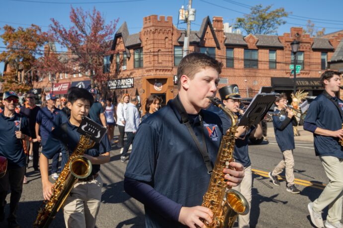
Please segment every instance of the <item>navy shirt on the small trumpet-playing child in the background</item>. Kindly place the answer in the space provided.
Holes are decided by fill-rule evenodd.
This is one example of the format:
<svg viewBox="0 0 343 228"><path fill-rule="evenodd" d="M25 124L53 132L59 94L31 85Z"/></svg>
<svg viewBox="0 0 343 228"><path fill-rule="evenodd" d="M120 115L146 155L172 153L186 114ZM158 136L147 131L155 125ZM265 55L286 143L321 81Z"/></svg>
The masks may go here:
<svg viewBox="0 0 343 228"><path fill-rule="evenodd" d="M279 113L280 110L276 110L275 113ZM289 119L286 117L285 120ZM273 115L273 126L274 126L274 133L277 145L279 146L281 152L285 150L294 150L295 144L294 144L294 131L293 131L293 125L292 121L290 121L287 126L281 130L280 127L282 125L282 122L279 119L279 116Z"/></svg>

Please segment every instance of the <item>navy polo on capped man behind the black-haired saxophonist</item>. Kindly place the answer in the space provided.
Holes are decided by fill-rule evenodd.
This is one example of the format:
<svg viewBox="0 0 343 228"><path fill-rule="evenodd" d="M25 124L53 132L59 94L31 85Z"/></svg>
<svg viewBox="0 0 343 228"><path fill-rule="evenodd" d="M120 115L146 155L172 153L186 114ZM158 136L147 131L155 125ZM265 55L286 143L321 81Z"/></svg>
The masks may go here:
<svg viewBox="0 0 343 228"><path fill-rule="evenodd" d="M54 119L61 110L54 109L53 112L48 110L48 107L43 107L38 111L36 122L40 124L40 136L42 137L42 145L46 143L46 140L49 137L49 133L52 131L54 125Z"/></svg>

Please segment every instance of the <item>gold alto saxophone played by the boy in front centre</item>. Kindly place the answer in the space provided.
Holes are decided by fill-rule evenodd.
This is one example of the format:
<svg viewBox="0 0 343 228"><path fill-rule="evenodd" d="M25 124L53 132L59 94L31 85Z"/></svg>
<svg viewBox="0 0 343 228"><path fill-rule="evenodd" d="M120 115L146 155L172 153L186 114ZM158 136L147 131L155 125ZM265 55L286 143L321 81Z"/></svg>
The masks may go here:
<svg viewBox="0 0 343 228"><path fill-rule="evenodd" d="M229 164L235 161L233 153L237 115L227 110L219 99L212 97L208 99L231 118L231 127L222 138L211 180L203 197L202 206L211 209L213 213L212 224L205 223L205 225L208 228L232 228L237 216L246 215L250 210L247 199L240 192L227 186L223 173L223 169L230 169Z"/></svg>

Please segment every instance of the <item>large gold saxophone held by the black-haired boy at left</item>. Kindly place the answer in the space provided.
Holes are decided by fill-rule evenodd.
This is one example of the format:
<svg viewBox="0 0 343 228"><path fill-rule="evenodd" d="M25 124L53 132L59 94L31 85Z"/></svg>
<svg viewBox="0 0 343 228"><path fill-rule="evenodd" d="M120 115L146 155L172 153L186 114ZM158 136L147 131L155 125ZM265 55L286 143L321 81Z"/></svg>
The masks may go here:
<svg viewBox="0 0 343 228"><path fill-rule="evenodd" d="M90 175L92 167L86 157L82 156L86 149L91 148L94 142L87 135L81 135L80 141L70 155L60 176L53 184L52 195L49 200L43 202L38 210L38 216L33 224L34 228L47 228L56 217L57 212L67 199L74 184L79 178L86 178Z"/></svg>

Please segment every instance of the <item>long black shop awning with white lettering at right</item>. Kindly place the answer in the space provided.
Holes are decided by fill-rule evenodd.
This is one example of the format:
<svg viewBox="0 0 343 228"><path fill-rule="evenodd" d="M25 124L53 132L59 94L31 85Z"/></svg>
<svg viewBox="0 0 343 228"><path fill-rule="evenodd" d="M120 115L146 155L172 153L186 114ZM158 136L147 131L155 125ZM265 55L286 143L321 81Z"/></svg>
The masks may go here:
<svg viewBox="0 0 343 228"><path fill-rule="evenodd" d="M271 86L274 90L293 90L294 79L287 77L272 77ZM297 78L297 89L301 90L323 90L319 78Z"/></svg>

